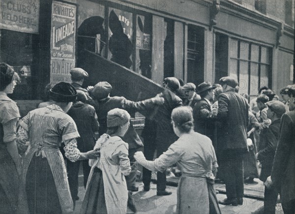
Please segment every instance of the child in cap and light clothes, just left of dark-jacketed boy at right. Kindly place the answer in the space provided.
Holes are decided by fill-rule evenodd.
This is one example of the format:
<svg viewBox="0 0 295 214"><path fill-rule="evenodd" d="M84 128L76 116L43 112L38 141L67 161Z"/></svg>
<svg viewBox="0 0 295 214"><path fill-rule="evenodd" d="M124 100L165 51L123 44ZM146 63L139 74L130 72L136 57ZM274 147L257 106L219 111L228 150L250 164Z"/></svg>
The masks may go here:
<svg viewBox="0 0 295 214"><path fill-rule="evenodd" d="M259 129L262 130L264 128L268 128L268 126L271 124L271 120L267 118L267 105L266 102L268 102L269 98L266 96L266 94L261 94L257 97L256 102L257 106L259 108L259 112L257 114L257 120L260 123Z"/></svg>

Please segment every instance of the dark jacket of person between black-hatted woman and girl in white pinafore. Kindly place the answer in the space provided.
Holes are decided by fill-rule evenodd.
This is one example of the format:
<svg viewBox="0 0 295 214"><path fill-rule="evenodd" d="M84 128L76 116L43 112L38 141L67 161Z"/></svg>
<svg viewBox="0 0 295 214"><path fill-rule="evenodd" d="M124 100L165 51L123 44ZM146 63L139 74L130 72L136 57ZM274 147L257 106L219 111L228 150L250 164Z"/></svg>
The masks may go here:
<svg viewBox="0 0 295 214"><path fill-rule="evenodd" d="M76 123L80 138L77 140L77 148L85 153L93 150L95 145L94 132L98 132L99 123L92 106L83 102L75 102L67 113Z"/></svg>

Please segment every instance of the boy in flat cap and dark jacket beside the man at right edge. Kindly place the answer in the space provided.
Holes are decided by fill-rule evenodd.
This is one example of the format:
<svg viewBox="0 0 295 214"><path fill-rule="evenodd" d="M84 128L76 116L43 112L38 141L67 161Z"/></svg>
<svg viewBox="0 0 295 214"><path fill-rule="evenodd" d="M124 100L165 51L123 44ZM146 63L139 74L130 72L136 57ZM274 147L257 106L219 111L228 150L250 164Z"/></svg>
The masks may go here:
<svg viewBox="0 0 295 214"><path fill-rule="evenodd" d="M271 174L272 162L278 143L279 129L282 115L286 112L285 105L281 101L266 102L268 106L267 118L271 120L268 128L260 133L261 151L257 153L257 159L261 162L261 173L259 179L266 182ZM264 213L275 214L275 206L278 192L274 188L265 188Z"/></svg>

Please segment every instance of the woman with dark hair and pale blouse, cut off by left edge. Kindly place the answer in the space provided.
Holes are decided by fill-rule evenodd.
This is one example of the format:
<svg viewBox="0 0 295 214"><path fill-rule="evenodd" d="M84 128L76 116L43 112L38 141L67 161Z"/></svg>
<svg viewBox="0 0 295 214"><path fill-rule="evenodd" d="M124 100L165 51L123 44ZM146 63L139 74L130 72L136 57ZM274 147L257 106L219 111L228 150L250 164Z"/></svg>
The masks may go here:
<svg viewBox="0 0 295 214"><path fill-rule="evenodd" d="M6 63L0 63L0 198L1 214L15 213L21 174L16 126L20 113L16 103L7 94L13 93L19 76Z"/></svg>

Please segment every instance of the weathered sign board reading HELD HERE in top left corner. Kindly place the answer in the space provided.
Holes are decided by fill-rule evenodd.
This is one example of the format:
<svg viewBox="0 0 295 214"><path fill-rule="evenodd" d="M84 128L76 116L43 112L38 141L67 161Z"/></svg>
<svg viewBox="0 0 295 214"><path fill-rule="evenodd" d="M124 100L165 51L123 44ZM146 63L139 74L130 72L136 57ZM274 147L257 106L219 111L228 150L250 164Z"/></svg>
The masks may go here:
<svg viewBox="0 0 295 214"><path fill-rule="evenodd" d="M39 0L1 0L0 28L39 33Z"/></svg>

